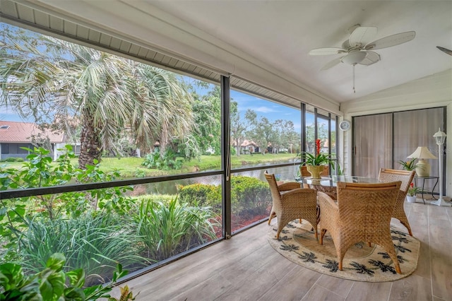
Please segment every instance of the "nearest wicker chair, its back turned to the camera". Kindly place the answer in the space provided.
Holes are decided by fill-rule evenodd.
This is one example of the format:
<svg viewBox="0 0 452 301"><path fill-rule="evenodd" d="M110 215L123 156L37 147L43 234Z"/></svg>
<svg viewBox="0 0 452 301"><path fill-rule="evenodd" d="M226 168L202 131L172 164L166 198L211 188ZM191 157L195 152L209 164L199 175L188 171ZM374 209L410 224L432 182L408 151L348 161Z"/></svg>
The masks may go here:
<svg viewBox="0 0 452 301"><path fill-rule="evenodd" d="M338 203L317 193L320 206L320 240L328 230L333 238L339 269L347 249L357 242L374 242L386 250L401 273L391 238L391 217L401 182L359 184L338 182Z"/></svg>

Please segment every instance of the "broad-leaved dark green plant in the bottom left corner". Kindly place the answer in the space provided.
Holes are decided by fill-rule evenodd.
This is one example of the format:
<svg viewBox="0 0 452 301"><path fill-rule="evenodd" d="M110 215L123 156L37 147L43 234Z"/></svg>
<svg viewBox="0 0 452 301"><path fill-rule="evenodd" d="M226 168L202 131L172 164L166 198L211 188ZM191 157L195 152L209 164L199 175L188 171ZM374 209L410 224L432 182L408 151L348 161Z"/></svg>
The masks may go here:
<svg viewBox="0 0 452 301"><path fill-rule="evenodd" d="M85 272L83 269L64 272L66 258L63 254L52 254L42 271L25 275L20 264L0 264L0 300L117 300L109 295L114 283L127 271L117 265L112 281L106 285L95 285L83 288ZM124 297L120 300L134 300L129 288L121 290Z"/></svg>

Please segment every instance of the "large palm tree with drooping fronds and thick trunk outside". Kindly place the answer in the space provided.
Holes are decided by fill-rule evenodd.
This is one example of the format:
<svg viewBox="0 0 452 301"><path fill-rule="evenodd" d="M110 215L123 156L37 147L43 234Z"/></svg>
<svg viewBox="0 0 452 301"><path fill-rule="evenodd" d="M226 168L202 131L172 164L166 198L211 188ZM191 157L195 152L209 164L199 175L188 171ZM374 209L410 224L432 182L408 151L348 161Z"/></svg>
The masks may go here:
<svg viewBox="0 0 452 301"><path fill-rule="evenodd" d="M2 25L4 27L5 25ZM174 73L6 25L0 105L23 117L81 125L80 167L116 151L124 130L139 148L191 131L191 95ZM62 118L61 118L62 117Z"/></svg>

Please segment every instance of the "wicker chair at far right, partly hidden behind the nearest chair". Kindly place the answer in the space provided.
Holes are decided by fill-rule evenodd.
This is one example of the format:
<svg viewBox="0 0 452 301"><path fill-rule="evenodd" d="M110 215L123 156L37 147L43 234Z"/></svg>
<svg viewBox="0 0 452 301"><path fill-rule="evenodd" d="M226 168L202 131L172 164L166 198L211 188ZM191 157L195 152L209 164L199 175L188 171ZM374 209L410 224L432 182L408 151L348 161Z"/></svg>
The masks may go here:
<svg viewBox="0 0 452 301"><path fill-rule="evenodd" d="M379 180L381 182L402 181L402 185L400 185L400 194L398 194L396 206L394 206L393 218L400 220L400 223L408 229L408 233L410 233L411 236L411 227L410 223L408 223L403 204L405 203L405 196L407 195L408 188L410 188L412 179L415 177L415 173L414 170L390 170L388 168L381 168L379 173Z"/></svg>

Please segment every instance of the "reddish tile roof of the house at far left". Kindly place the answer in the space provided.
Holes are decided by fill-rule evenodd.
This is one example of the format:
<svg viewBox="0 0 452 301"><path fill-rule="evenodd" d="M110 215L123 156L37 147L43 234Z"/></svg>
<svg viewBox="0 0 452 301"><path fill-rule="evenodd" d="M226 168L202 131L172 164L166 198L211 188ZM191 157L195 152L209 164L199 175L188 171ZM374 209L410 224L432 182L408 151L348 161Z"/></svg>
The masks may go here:
<svg viewBox="0 0 452 301"><path fill-rule="evenodd" d="M44 131L49 136L51 143L64 141L64 134ZM3 143L27 143L31 142L31 136L42 133L36 124L30 122L6 122L0 120L0 142Z"/></svg>

